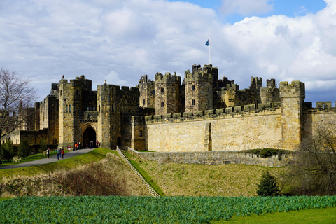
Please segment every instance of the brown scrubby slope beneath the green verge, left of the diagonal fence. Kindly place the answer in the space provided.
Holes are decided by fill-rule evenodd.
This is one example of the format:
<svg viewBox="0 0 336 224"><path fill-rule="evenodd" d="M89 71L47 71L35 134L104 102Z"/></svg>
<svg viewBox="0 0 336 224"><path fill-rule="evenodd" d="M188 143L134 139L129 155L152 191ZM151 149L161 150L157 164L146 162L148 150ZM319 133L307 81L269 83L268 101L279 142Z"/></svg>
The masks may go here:
<svg viewBox="0 0 336 224"><path fill-rule="evenodd" d="M115 153L112 151L99 162L92 162L67 171L35 176L20 176L18 174L14 178L2 179L0 197L149 195L148 190L143 187L137 176ZM78 158L68 160L73 160L76 163ZM48 167L51 165L49 164Z"/></svg>

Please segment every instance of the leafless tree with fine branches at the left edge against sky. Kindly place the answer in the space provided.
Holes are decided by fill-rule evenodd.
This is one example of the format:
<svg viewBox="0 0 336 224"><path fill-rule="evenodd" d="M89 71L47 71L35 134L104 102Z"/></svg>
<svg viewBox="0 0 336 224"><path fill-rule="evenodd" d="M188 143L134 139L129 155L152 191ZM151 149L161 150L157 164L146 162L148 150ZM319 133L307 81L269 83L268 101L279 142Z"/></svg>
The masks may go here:
<svg viewBox="0 0 336 224"><path fill-rule="evenodd" d="M36 100L31 81L18 77L15 71L0 69L0 132L1 137L20 127L34 113L29 109Z"/></svg>

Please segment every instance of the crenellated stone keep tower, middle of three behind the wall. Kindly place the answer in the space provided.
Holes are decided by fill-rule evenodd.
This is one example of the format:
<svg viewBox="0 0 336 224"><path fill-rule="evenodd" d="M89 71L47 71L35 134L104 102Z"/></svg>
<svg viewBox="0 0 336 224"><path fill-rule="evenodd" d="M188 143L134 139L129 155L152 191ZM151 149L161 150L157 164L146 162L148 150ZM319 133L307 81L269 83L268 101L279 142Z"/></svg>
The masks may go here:
<svg viewBox="0 0 336 224"><path fill-rule="evenodd" d="M166 73L155 74L155 113L177 113L181 109L179 87L181 77Z"/></svg>

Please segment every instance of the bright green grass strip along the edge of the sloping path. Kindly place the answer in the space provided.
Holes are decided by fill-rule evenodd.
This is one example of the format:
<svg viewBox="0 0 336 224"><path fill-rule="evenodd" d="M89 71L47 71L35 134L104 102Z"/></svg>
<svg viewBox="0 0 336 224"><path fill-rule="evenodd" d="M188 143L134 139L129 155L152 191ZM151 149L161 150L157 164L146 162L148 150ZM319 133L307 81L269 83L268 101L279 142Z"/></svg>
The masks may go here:
<svg viewBox="0 0 336 224"><path fill-rule="evenodd" d="M91 162L97 162L106 157L107 153L113 153L113 151L107 148L95 148L89 153L78 155L66 160L59 160L57 162L50 162L45 165L36 165L30 167L20 167L14 169L0 169L0 176L2 178L13 178L14 176L34 176L37 174L50 174L55 171L69 170L81 165L85 165ZM115 152L116 153L116 152ZM0 180L1 181L1 180Z"/></svg>

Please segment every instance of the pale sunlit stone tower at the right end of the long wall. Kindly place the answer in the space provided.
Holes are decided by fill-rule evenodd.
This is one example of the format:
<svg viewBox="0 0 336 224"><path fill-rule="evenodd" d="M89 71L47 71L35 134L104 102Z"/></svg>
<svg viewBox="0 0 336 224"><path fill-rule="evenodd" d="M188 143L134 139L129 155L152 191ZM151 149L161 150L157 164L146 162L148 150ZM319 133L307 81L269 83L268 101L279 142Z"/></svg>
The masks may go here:
<svg viewBox="0 0 336 224"><path fill-rule="evenodd" d="M280 83L281 125L283 149L300 147L302 134L302 106L304 104L304 83L293 81Z"/></svg>

